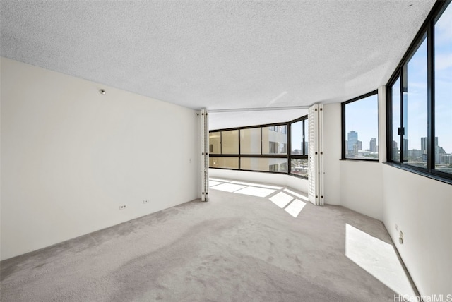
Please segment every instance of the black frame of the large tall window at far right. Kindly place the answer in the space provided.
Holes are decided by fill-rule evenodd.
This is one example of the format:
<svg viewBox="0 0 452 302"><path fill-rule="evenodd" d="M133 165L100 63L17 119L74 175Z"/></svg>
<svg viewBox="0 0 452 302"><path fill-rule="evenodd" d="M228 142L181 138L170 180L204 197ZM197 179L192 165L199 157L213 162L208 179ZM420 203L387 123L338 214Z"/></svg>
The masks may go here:
<svg viewBox="0 0 452 302"><path fill-rule="evenodd" d="M415 174L426 176L430 179L442 181L444 183L452 184L452 174L434 169L435 162L435 87L434 87L434 27L436 20L439 19L441 13L449 6L452 5L452 1L436 1L429 16L422 24L420 30L418 30L415 39L412 40L410 47L405 52L402 60L398 64L396 70L391 75L391 78L386 84L386 158L387 162L392 167L398 167L405 171L410 171ZM427 39L427 167L417 167L412 164L405 163L405 141L400 139L400 136L404 132L404 112L406 109L403 107L403 80L406 76L406 70L404 67L408 64L411 57L417 51L417 47L422 43L423 39ZM400 142L400 160L393 159L393 95L392 87L400 78L400 130L398 131L398 142ZM404 111L405 109L405 111ZM452 135L452 133L451 133ZM407 150L408 152L408 150Z"/></svg>

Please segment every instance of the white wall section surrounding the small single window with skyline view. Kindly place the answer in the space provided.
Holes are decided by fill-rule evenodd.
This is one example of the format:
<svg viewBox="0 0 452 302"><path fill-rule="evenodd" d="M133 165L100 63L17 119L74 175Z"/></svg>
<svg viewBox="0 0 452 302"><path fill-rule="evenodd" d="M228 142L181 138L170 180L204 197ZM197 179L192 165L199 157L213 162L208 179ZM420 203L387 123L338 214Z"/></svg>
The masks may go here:
<svg viewBox="0 0 452 302"><path fill-rule="evenodd" d="M375 219L383 220L383 181L381 162L385 136L384 87L379 88L379 162L340 160L341 105L323 105L323 166L325 203L340 204Z"/></svg>

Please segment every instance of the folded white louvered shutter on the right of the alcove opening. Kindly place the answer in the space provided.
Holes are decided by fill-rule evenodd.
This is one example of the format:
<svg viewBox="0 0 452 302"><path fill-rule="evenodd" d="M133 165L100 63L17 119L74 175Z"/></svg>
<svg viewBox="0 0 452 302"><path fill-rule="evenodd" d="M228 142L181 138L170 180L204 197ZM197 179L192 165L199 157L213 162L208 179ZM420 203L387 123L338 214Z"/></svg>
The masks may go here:
<svg viewBox="0 0 452 302"><path fill-rule="evenodd" d="M308 198L314 205L323 205L323 105L308 111Z"/></svg>

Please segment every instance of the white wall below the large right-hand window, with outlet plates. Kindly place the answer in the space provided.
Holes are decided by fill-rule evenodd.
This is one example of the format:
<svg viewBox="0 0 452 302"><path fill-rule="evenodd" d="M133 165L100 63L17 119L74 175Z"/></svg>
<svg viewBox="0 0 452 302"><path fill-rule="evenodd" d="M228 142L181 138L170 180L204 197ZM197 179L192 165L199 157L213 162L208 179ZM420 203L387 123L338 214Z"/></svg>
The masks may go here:
<svg viewBox="0 0 452 302"><path fill-rule="evenodd" d="M452 186L383 165L383 222L420 294L452 294Z"/></svg>

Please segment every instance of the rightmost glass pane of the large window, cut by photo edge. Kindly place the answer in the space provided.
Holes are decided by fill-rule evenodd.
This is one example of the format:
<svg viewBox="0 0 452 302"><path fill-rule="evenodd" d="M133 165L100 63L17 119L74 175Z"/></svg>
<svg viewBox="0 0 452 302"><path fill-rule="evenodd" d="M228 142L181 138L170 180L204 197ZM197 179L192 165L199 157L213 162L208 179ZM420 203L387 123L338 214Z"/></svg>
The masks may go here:
<svg viewBox="0 0 452 302"><path fill-rule="evenodd" d="M452 5L435 24L435 169L452 173Z"/></svg>

